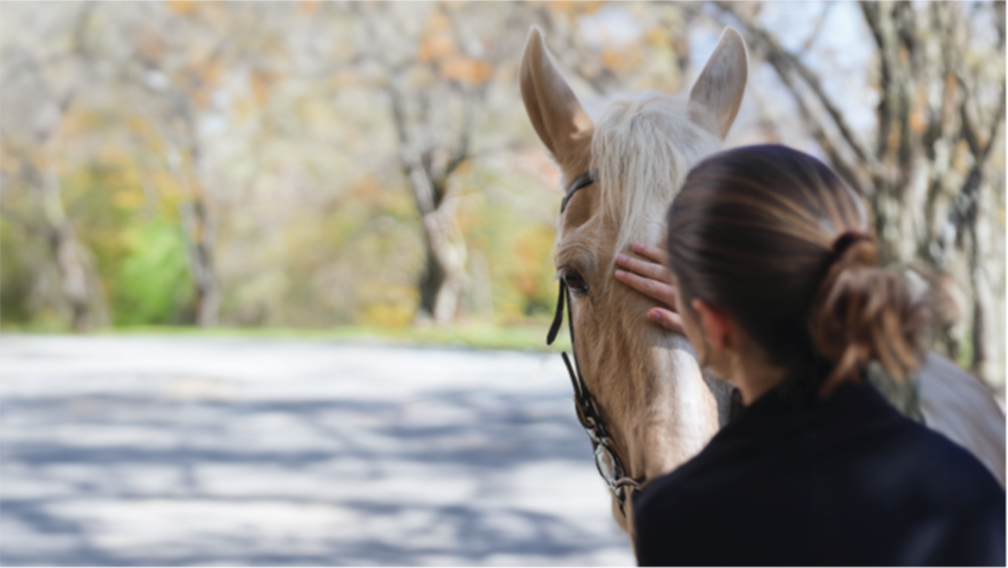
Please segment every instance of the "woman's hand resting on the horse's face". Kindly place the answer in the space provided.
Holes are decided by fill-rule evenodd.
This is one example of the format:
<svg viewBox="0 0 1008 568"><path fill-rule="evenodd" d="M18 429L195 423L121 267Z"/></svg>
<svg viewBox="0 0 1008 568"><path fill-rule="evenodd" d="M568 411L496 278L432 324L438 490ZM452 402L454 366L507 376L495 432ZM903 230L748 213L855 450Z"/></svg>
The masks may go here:
<svg viewBox="0 0 1008 568"><path fill-rule="evenodd" d="M657 308L647 311L648 320L669 331L682 333L682 320L675 313L675 288L670 283L665 251L640 242L633 243L633 250L642 258L617 255L616 264L622 269L616 270L616 279L658 302Z"/></svg>

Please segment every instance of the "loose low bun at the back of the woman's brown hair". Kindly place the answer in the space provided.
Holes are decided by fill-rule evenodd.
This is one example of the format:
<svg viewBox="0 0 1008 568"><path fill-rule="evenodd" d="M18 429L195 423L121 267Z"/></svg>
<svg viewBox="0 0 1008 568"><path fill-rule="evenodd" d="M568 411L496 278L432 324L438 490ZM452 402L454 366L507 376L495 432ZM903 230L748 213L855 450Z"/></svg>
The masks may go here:
<svg viewBox="0 0 1008 568"><path fill-rule="evenodd" d="M833 363L823 393L844 380L859 380L871 361L895 379L906 379L919 365L922 303L902 274L877 266L878 248L868 234L841 234L829 260L808 317L815 350Z"/></svg>

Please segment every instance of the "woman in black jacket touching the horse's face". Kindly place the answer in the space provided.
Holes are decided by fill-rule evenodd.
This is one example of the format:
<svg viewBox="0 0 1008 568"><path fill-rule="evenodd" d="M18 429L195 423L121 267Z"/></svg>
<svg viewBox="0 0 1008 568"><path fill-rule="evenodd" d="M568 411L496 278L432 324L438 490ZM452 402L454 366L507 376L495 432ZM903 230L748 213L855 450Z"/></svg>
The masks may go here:
<svg viewBox="0 0 1008 568"><path fill-rule="evenodd" d="M864 379L875 362L905 380L925 322L836 174L782 146L718 154L666 245L635 245L616 276L672 308L648 317L745 408L635 498L640 566L1005 566L997 481Z"/></svg>

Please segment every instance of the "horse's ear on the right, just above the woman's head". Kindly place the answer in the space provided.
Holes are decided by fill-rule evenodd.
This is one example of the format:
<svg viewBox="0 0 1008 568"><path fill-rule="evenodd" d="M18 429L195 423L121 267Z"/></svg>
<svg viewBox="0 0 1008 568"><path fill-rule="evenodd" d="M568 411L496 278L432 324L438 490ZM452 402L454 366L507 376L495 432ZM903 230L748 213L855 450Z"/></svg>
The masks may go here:
<svg viewBox="0 0 1008 568"><path fill-rule="evenodd" d="M724 138L739 113L748 75L745 41L735 29L725 28L714 54L689 92L689 110L694 119Z"/></svg>

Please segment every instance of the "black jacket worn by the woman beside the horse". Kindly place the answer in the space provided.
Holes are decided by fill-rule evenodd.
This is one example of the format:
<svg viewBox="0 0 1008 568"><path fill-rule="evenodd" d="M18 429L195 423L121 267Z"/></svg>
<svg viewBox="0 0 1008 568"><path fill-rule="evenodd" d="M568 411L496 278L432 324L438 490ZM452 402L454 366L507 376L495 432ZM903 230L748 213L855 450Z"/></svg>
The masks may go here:
<svg viewBox="0 0 1008 568"><path fill-rule="evenodd" d="M869 385L779 390L635 497L641 567L1005 566L1005 492L966 450Z"/></svg>

